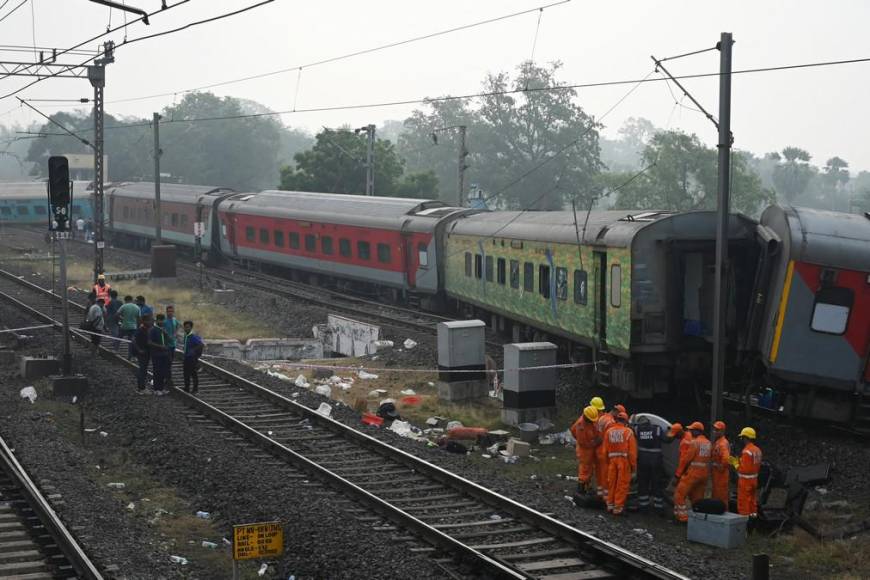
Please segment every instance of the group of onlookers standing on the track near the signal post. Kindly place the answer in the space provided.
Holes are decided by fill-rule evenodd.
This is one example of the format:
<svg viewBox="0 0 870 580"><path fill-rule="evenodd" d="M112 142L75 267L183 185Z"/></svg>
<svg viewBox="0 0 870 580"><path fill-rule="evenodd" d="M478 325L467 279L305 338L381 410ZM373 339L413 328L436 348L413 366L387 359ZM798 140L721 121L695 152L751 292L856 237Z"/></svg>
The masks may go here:
<svg viewBox="0 0 870 580"><path fill-rule="evenodd" d="M136 392L139 394L165 395L173 386L172 364L182 346L182 370L184 390L196 393L199 390L199 359L205 344L194 334L193 321L179 323L175 317L175 307L169 305L164 312L156 313L146 304L144 296L125 296L118 299L118 292L100 274L89 294L88 309L82 322L82 329L91 337L94 353L99 349L103 336L110 336L114 350L118 351L122 342L129 344L127 357L136 359ZM147 389L148 367L151 366L153 385Z"/></svg>

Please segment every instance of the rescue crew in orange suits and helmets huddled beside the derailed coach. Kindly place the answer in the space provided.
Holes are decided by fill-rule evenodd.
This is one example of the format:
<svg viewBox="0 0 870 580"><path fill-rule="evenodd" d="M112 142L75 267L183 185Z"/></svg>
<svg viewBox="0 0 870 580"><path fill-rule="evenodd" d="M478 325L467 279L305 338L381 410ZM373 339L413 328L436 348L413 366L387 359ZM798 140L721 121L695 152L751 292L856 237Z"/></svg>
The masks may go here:
<svg viewBox="0 0 870 580"><path fill-rule="evenodd" d="M758 474L761 450L755 444L756 433L744 427L739 439L743 449L738 457L731 455L731 444L725 436L722 421L713 424L712 439L705 436L704 424L695 421L684 428L671 425L667 432L649 418L640 415L629 424L623 405L606 410L601 397L593 397L571 427L576 440L578 485L581 492L595 488L607 511L622 515L631 482L637 480L639 509L649 509L650 499L655 509L664 509L664 463L662 445L679 441L679 463L672 480L674 488L674 518L685 523L689 519L690 502L698 505L707 493L711 481L711 497L729 507L731 469L737 473L737 513L756 516Z"/></svg>

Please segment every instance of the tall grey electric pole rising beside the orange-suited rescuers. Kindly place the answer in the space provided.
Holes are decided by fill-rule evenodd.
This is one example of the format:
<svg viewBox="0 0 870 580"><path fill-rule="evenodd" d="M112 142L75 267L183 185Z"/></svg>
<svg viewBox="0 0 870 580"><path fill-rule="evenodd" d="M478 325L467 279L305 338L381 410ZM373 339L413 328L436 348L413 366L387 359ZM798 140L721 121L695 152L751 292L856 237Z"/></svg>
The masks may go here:
<svg viewBox="0 0 870 580"><path fill-rule="evenodd" d="M716 292L713 312L713 388L710 423L722 418L725 382L725 343L728 326L728 221L731 196L731 39L723 32L719 40L719 196L716 212Z"/></svg>

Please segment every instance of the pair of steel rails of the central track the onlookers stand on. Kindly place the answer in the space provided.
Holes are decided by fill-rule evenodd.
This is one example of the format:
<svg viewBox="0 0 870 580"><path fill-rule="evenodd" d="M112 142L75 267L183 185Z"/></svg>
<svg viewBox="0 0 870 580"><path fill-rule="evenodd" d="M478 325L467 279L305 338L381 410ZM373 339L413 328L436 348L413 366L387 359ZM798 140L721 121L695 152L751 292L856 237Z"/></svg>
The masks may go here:
<svg viewBox="0 0 870 580"><path fill-rule="evenodd" d="M20 278L8 272L0 270L0 277L8 278L20 285L27 287L28 289L33 290L34 292L50 296L52 297L52 299L60 300L60 297L56 294L45 290L31 282L21 280ZM36 312L35 309L31 308L28 305L25 305L17 300L16 302L23 309L26 309L30 312ZM45 320L51 320L50 317L41 313L40 317ZM71 332L79 339L81 339L83 336L81 333L75 332L73 330L71 330ZM127 361L124 357L115 355L114 353L106 350L104 347L101 347L101 350L104 354L117 358L118 360L123 361L127 365L131 365L131 363ZM610 542L601 540L600 538L597 538L589 533L578 530L550 516L537 512L509 497L498 494L469 479L451 473L439 466L433 465L419 457L416 457L415 455L392 447L391 445L380 441L379 439L376 439L366 433L358 431L348 425L345 425L344 423L341 423L329 417L325 417L317 413L315 410L310 409L305 405L302 405L301 403L297 403L292 399L288 399L287 397L284 397L283 395L280 395L274 391L262 387L248 379L245 379L244 377L240 377L227 369L224 369L220 366L206 361L200 361L200 364L211 374L226 379L230 383L236 386L240 386L250 392L256 393L257 396L275 404L276 406L302 415L311 422L316 422L319 426L324 427L334 433L340 434L344 439L352 441L364 449L373 451L379 455L392 459L397 463L410 467L414 471L425 474L430 479L438 481L439 483L447 487L453 488L454 490L469 495L482 502L483 504L486 504L494 509L510 513L518 519L532 524L536 528L541 529L544 532L574 546L591 565L606 567L608 571L613 570L616 573L620 574L619 577L624 578L656 578L668 580L687 579L686 576L670 570L660 564L652 562L646 558L643 558L642 556L634 554L629 550L616 546L615 544L612 544ZM255 429L244 424L238 419L235 419L227 413L224 413L223 411L213 407L212 405L209 405L205 401L202 401L190 394L184 393L177 388L172 389L170 392L174 397L180 398L190 406L199 409L200 411L206 413L208 416L217 419L218 422L226 426L231 426L234 430L244 434L247 438L258 442L260 445L268 446L269 450L276 452L285 459L290 460L292 463L300 465L303 469L311 471L316 475L320 475L333 485L340 487L342 490L360 499L361 501L372 507L374 511L377 511L388 519L399 523L409 531L418 534L430 543L433 543L436 546L447 549L466 558L473 558L475 559L475 561L484 564L488 569L492 570L493 572L497 572L498 575L501 577L530 577L527 574L519 572L518 570L510 567L504 562L499 561L497 557L491 557L486 554L482 554L479 551L474 550L470 546L467 546L462 542L451 538L440 530L437 530L434 527L426 524L425 522L422 522L418 518L415 518L414 516L408 514L400 508L389 504L387 501L362 489L358 485L348 481L346 478L343 478L338 474L329 471L323 466L318 465L316 462L278 443L267 435L256 431Z"/></svg>

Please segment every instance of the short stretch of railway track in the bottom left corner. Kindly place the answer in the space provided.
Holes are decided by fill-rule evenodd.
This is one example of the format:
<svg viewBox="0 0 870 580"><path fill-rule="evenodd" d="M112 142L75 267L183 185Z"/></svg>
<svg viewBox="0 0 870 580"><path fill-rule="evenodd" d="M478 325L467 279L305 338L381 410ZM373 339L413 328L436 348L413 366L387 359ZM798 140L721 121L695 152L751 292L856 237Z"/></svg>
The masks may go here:
<svg viewBox="0 0 870 580"><path fill-rule="evenodd" d="M0 579L101 579L3 439L0 467Z"/></svg>

